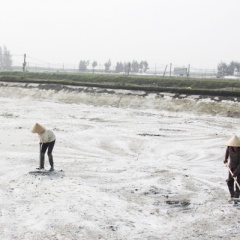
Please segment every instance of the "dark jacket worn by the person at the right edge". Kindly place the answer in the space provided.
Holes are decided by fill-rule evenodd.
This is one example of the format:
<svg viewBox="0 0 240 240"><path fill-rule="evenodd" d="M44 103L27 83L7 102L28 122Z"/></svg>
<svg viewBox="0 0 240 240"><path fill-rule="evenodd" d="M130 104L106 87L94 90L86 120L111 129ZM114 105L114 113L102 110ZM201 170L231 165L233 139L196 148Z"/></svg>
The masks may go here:
<svg viewBox="0 0 240 240"><path fill-rule="evenodd" d="M227 147L225 160L230 157L229 167L234 173L234 175L238 175L240 173L240 148L238 147L236 151L234 151L233 147Z"/></svg>

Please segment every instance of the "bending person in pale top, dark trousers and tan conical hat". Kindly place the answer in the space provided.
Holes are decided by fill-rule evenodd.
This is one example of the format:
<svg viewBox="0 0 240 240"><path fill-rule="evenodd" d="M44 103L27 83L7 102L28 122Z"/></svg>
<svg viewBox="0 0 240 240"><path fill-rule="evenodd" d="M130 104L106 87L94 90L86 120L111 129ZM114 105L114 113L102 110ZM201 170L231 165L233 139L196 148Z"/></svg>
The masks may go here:
<svg viewBox="0 0 240 240"><path fill-rule="evenodd" d="M32 130L32 133L37 133L40 139L40 169L44 169L44 158L47 151L49 164L51 166L50 171L54 171L53 155L52 151L56 142L56 136L53 131L46 129L39 123L36 123Z"/></svg>

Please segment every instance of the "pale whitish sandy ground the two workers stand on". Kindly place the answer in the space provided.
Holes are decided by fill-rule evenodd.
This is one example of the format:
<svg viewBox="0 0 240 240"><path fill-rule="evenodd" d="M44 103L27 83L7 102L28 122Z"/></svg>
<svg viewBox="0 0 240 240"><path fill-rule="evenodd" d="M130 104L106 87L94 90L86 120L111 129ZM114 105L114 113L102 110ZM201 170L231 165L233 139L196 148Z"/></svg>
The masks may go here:
<svg viewBox="0 0 240 240"><path fill-rule="evenodd" d="M1 239L240 239L222 162L239 104L139 95L0 87ZM55 174L29 174L35 122Z"/></svg>

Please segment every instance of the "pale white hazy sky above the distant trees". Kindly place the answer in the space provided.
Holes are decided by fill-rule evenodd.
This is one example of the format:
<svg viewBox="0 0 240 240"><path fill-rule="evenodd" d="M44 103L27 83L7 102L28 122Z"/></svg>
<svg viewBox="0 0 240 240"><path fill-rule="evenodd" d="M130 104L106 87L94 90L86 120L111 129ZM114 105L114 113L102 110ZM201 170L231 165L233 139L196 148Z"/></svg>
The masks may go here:
<svg viewBox="0 0 240 240"><path fill-rule="evenodd" d="M0 46L26 53L29 62L216 68L240 61L240 0L0 0L0 6Z"/></svg>

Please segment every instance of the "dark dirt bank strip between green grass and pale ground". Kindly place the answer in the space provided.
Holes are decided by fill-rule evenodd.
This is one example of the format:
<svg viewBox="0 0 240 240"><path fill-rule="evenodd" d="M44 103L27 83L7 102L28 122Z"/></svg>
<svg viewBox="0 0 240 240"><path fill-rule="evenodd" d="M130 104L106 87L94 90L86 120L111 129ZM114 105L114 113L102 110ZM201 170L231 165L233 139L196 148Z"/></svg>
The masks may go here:
<svg viewBox="0 0 240 240"><path fill-rule="evenodd" d="M197 95L199 99L210 98L214 101L240 101L240 92L238 91L225 91L225 90L197 90L197 89L184 89L184 88L174 88L174 87L141 87L141 86L111 86L104 84L96 84L96 83L77 83L77 82L55 82L55 81L29 81L29 80L11 80L4 82L0 80L0 86L6 86L6 84L11 83L21 83L21 87L31 88L32 84L38 84L39 89L45 90L54 90L54 91L79 91L79 92L97 92L97 93L107 93L107 94L115 94L116 90L128 90L135 91L137 94L138 91L144 91L145 94L140 95L148 95L149 93L162 94L170 93L173 98L183 99L191 95ZM131 93L129 93L131 94Z"/></svg>

